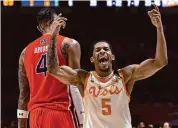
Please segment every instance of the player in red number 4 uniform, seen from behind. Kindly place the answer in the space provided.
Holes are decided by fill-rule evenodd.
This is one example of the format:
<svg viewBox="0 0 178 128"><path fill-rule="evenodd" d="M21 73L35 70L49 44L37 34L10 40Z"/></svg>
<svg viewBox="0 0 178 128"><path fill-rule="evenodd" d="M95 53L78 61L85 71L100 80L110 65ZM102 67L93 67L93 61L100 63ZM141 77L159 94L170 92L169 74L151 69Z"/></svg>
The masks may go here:
<svg viewBox="0 0 178 128"><path fill-rule="evenodd" d="M37 14L38 29L43 34L30 43L19 59L18 127L77 128L70 110L69 87L47 73L47 50L55 27L52 22L66 25L66 18L54 10L44 8ZM80 45L71 38L57 35L57 53L60 65L80 68ZM80 94L80 93L79 93ZM79 99L78 99L79 100Z"/></svg>

